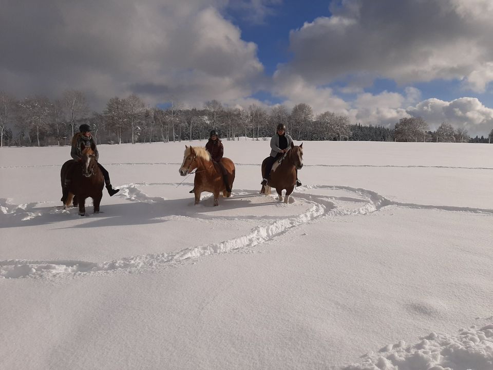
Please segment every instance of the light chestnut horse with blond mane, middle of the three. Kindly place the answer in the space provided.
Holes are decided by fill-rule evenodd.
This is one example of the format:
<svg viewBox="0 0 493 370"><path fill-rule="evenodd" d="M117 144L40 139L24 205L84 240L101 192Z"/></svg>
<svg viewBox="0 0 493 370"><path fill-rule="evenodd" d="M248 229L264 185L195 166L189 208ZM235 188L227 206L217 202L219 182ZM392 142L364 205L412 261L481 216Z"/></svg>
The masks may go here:
<svg viewBox="0 0 493 370"><path fill-rule="evenodd" d="M235 164L229 158L222 158L221 164L224 166L227 174L227 183L230 189L233 188L235 180ZM219 194L222 192L224 197L229 197L231 192L226 190L222 171L219 165L211 159L211 154L200 146L186 146L183 155L183 163L181 164L181 176L186 176L189 173L195 173L195 204L200 202L200 193L206 191L214 194L214 206L219 205Z"/></svg>

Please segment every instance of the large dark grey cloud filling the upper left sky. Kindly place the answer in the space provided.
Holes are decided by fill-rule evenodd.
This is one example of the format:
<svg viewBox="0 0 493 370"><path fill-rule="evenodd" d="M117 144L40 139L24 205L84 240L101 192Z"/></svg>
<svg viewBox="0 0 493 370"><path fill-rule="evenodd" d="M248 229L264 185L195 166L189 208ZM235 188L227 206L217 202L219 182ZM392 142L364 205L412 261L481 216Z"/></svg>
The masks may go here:
<svg viewBox="0 0 493 370"><path fill-rule="evenodd" d="M263 66L256 45L221 14L229 4L58 0L33 2L27 12L10 2L0 12L0 34L15 35L0 38L2 88L51 98L82 89L97 109L130 93L151 104L171 95L197 106L242 99L256 90Z"/></svg>

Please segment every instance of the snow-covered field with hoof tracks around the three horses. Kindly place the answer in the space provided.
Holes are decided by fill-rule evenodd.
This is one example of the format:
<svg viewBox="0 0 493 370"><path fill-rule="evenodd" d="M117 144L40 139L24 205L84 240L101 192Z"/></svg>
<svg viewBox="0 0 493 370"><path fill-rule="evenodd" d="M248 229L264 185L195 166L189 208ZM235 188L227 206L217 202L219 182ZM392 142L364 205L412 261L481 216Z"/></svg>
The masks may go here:
<svg viewBox="0 0 493 370"><path fill-rule="evenodd" d="M493 369L493 145L305 142L286 205L223 140L213 207L185 144L100 145L88 217L69 147L0 150L0 368Z"/></svg>

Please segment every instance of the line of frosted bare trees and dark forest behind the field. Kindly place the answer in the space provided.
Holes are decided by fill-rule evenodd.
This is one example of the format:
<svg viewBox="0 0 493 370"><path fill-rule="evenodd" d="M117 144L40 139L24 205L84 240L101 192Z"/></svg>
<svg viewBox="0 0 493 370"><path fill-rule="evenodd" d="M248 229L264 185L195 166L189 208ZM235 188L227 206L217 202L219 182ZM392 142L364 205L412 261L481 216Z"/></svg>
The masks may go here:
<svg viewBox="0 0 493 370"><path fill-rule="evenodd" d="M137 95L130 95L111 98L103 112L93 112L79 90L66 90L53 101L45 96L18 100L0 91L2 147L66 145L82 123L90 125L98 144L207 139L212 129L228 140L258 140L272 136L279 123L287 125L295 140L491 142L493 138L493 130L486 138L470 138L464 128L446 122L430 131L420 117L402 118L394 128L351 124L348 116L333 112L314 115L306 103L291 110L283 105L268 110L257 104L231 108L211 100L200 109L185 109L175 99L149 107Z"/></svg>

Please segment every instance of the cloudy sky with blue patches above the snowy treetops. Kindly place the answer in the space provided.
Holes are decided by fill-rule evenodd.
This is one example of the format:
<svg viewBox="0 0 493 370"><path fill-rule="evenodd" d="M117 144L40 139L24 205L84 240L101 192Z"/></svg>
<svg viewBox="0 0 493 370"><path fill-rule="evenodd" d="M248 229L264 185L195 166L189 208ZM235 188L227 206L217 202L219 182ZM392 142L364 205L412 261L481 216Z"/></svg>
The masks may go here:
<svg viewBox="0 0 493 370"><path fill-rule="evenodd" d="M202 107L310 104L392 127L493 128L489 0L9 0L0 89ZM18 22L22 19L23 22Z"/></svg>

